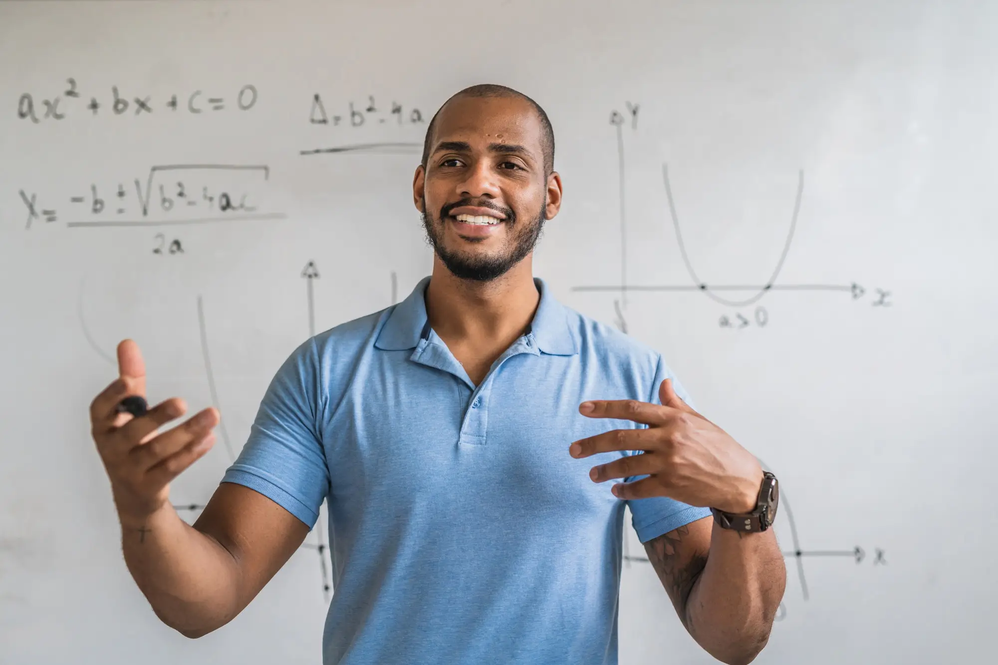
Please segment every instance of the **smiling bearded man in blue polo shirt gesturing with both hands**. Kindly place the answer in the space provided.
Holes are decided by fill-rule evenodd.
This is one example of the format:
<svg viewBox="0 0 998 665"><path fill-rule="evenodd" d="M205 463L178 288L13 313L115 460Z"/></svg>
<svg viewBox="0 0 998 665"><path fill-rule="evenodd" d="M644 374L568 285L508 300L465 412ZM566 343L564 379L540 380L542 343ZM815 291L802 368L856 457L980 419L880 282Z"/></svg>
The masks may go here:
<svg viewBox="0 0 998 665"><path fill-rule="evenodd" d="M772 480L659 353L533 278L561 206L553 161L547 115L520 93L475 86L441 107L412 185L432 276L291 353L194 526L168 483L219 413L162 433L181 399L117 413L145 393L137 345L119 345L93 433L126 563L165 623L198 637L231 621L328 498L326 665L616 663L626 502L690 634L727 663L755 657L785 581L758 512ZM749 532L730 528L743 518Z"/></svg>

